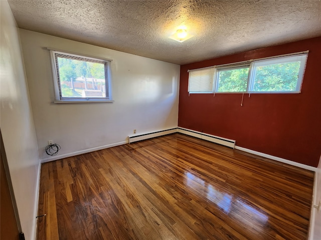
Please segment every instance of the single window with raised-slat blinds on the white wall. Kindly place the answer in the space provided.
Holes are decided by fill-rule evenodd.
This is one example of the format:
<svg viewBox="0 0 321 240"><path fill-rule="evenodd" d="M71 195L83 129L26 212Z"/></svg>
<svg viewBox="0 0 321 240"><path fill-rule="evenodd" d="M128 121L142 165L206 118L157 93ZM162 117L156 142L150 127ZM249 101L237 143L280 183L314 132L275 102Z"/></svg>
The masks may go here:
<svg viewBox="0 0 321 240"><path fill-rule="evenodd" d="M51 52L55 102L111 101L110 60Z"/></svg>

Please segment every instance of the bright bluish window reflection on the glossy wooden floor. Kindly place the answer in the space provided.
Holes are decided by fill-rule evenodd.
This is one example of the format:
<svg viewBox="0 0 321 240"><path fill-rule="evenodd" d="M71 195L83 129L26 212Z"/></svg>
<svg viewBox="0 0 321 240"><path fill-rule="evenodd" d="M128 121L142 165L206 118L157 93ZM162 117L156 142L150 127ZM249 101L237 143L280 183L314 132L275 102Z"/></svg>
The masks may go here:
<svg viewBox="0 0 321 240"><path fill-rule="evenodd" d="M239 197L218 190L191 172L186 172L185 176L189 188L215 203L225 214L256 228L256 230L260 230L259 228L267 222L268 216L262 213L259 208L247 204Z"/></svg>

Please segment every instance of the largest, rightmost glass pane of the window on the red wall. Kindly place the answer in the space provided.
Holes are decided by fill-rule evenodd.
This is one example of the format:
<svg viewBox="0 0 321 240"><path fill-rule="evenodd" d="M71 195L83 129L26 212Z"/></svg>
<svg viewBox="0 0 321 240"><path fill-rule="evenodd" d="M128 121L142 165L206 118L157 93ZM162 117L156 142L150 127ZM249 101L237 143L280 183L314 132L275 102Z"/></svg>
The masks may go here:
<svg viewBox="0 0 321 240"><path fill-rule="evenodd" d="M305 60L299 55L254 62L251 91L299 91Z"/></svg>

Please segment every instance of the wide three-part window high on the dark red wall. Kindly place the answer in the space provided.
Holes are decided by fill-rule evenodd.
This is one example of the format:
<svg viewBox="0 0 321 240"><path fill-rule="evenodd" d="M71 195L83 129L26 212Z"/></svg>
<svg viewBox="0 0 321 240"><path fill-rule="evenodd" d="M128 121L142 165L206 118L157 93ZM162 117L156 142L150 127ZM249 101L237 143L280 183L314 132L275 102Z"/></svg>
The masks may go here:
<svg viewBox="0 0 321 240"><path fill-rule="evenodd" d="M189 71L189 93L300 92L307 53Z"/></svg>

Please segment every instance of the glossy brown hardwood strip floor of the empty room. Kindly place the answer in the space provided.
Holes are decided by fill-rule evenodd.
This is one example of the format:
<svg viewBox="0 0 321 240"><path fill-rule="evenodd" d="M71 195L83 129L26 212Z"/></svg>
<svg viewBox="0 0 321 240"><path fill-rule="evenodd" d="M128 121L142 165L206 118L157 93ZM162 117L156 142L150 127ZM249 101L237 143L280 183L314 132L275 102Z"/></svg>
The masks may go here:
<svg viewBox="0 0 321 240"><path fill-rule="evenodd" d="M307 239L312 183L175 133L43 163L38 239Z"/></svg>

